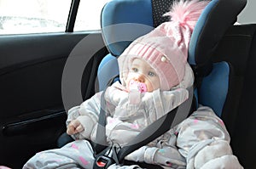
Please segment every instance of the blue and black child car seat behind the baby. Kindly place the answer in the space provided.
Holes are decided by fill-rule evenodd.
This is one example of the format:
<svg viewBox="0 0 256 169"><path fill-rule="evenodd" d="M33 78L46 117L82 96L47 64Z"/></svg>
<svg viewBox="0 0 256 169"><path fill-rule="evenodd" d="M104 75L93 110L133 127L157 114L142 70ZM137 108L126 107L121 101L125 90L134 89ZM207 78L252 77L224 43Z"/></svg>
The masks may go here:
<svg viewBox="0 0 256 169"><path fill-rule="evenodd" d="M236 22L236 16L246 3L246 0L212 0L195 25L189 43L188 61L195 72L197 103L211 107L224 118L230 131L236 114L224 111L224 107L229 104L229 91L233 88L230 84L233 83L233 65L222 59L213 63L212 57L216 54L218 42ZM104 90L109 79L119 75L117 58L130 42L169 20L162 14L168 11L166 7L171 4L172 0L113 0L105 5L102 9L102 37L110 54L99 65L99 90Z"/></svg>

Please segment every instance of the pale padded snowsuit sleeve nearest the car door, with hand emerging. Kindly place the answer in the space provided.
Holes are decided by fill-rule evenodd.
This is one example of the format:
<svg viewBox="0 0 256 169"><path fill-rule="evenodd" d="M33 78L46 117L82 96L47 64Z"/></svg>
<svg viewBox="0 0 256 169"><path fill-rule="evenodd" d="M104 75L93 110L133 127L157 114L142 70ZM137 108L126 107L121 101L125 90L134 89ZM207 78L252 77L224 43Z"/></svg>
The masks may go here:
<svg viewBox="0 0 256 169"><path fill-rule="evenodd" d="M68 110L66 124L68 125L70 121L77 119L80 121L80 123L84 127L84 131L73 135L73 138L90 139L90 134L94 129L94 127L96 126L96 122L98 121L98 115L100 113L100 107L101 107L101 97L102 97L102 92L96 93L90 99L87 99L86 101L84 101L84 103Z"/></svg>

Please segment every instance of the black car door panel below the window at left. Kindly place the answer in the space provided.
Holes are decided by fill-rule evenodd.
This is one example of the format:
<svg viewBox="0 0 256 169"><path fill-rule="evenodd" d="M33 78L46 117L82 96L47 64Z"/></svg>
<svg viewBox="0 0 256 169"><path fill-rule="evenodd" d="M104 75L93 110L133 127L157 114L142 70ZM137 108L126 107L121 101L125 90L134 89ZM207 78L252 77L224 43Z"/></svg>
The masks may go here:
<svg viewBox="0 0 256 169"><path fill-rule="evenodd" d="M1 165L20 168L36 152L56 148L67 120L61 96L63 69L73 48L88 35L81 32L0 37ZM100 33L90 36L95 42L102 42ZM88 50L84 47L84 57L89 57ZM93 65L106 52L103 49L90 59L81 84L94 79L91 75L97 67ZM86 90L89 89L84 87Z"/></svg>

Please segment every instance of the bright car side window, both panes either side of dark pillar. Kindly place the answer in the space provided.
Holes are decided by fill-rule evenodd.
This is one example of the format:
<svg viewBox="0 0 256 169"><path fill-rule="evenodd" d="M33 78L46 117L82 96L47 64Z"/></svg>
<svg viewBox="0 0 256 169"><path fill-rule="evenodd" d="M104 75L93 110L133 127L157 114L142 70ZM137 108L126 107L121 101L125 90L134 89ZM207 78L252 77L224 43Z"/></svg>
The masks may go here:
<svg viewBox="0 0 256 169"><path fill-rule="evenodd" d="M100 30L106 0L81 0L74 31ZM72 0L0 0L0 35L66 31Z"/></svg>

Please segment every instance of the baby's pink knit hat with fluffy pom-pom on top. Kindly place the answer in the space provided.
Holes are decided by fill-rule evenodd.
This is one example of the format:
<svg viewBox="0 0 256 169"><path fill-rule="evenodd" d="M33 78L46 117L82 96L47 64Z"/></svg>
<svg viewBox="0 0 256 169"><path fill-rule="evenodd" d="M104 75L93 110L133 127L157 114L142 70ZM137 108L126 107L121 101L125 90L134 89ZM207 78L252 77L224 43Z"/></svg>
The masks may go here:
<svg viewBox="0 0 256 169"><path fill-rule="evenodd" d="M160 77L160 89L170 90L184 77L191 33L208 1L179 1L172 5L171 21L139 37L119 57L120 80L125 84L134 59L143 59Z"/></svg>

